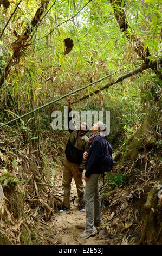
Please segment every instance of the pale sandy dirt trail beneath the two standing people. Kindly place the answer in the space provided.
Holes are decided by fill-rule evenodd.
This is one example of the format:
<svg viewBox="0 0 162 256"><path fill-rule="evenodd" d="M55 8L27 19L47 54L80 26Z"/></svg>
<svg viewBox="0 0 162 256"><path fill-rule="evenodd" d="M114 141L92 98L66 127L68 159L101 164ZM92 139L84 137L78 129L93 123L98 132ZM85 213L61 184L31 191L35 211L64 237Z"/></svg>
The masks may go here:
<svg viewBox="0 0 162 256"><path fill-rule="evenodd" d="M57 191L61 194L63 198L62 189L62 177L57 176L57 186L55 187ZM101 245L104 243L103 239L100 239L98 234L89 237L88 239L80 239L85 227L85 212L80 212L77 209L77 198L74 203L71 201L74 196L77 196L76 186L74 179L72 180L72 189L70 194L70 207L71 209L67 212L59 213L54 218L53 225L57 227L57 231L60 237L61 245ZM79 226L79 227L77 227Z"/></svg>

